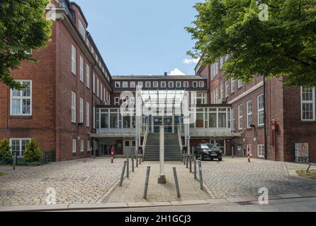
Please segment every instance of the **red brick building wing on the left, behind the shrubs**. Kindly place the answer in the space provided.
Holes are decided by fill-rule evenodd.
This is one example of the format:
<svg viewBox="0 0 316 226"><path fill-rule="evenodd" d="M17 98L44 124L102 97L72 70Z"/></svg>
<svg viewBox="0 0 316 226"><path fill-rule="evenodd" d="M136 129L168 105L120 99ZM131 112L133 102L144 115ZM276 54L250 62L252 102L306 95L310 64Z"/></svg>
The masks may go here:
<svg viewBox="0 0 316 226"><path fill-rule="evenodd" d="M50 42L32 52L39 62L23 62L12 72L28 90L0 85L0 138L9 138L19 157L30 138L42 151L53 150L56 160L89 155L95 106L111 98L111 74L86 31L81 8L59 2L52 1L56 21Z"/></svg>

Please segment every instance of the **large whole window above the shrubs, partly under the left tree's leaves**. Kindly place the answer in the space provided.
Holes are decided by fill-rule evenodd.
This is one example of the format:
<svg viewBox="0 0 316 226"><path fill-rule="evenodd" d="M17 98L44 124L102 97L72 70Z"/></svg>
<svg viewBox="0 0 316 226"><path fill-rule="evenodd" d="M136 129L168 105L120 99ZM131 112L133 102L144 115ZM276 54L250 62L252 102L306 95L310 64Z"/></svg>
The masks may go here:
<svg viewBox="0 0 316 226"><path fill-rule="evenodd" d="M32 115L32 81L16 81L27 85L23 90L10 90L10 114L11 116Z"/></svg>

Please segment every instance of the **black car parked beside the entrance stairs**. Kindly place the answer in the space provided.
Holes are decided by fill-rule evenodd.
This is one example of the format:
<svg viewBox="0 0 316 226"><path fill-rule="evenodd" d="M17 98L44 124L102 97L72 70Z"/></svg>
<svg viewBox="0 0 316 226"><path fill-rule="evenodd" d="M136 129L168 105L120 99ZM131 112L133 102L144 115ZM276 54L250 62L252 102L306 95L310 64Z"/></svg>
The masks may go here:
<svg viewBox="0 0 316 226"><path fill-rule="evenodd" d="M209 158L210 160L217 159L222 161L222 150L210 143L199 143L196 146L196 158L204 160L204 158Z"/></svg>

